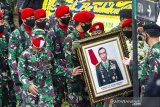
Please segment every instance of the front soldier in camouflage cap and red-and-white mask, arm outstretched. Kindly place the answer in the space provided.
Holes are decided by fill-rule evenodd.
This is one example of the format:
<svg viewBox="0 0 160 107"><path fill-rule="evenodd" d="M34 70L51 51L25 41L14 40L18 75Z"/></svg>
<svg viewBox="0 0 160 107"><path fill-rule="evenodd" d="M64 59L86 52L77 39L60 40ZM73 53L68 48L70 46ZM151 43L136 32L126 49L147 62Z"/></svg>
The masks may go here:
<svg viewBox="0 0 160 107"><path fill-rule="evenodd" d="M73 78L67 72L63 72L61 66L54 63L52 52L44 47L44 36L44 30L35 29L31 38L32 46L19 57L18 72L24 86L23 107L53 107L52 75ZM82 72L82 69L75 68L72 75L76 76Z"/></svg>

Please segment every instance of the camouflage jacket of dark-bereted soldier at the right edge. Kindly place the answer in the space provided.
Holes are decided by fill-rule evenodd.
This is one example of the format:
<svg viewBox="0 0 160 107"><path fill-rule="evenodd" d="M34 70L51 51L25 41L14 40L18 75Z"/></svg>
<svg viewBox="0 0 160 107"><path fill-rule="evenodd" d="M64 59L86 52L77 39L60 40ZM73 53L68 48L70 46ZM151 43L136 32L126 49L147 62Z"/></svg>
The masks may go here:
<svg viewBox="0 0 160 107"><path fill-rule="evenodd" d="M139 66L142 70L141 81L146 84L148 80L160 73L160 42L155 43L148 52L148 57L145 59L143 66Z"/></svg>

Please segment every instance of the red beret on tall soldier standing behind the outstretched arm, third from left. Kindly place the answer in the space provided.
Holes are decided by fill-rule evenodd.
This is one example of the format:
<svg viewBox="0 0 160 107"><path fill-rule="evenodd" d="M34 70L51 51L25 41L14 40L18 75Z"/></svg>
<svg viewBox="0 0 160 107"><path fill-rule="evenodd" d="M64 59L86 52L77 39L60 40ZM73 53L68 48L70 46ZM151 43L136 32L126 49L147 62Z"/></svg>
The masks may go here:
<svg viewBox="0 0 160 107"><path fill-rule="evenodd" d="M63 15L65 15L66 13L69 13L69 7L68 6L65 6L65 5L62 5L62 6L59 6L57 9L56 9L56 17L57 18L60 18L62 17Z"/></svg>

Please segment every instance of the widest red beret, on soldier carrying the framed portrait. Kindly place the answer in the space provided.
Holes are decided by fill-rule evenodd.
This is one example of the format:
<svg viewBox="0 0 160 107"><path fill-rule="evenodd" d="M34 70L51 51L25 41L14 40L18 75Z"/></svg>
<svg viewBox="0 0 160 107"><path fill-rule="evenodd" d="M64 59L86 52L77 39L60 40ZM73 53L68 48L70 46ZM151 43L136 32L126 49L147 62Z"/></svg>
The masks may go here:
<svg viewBox="0 0 160 107"><path fill-rule="evenodd" d="M89 22L93 20L94 14L89 11L80 11L79 13L74 15L74 20L77 22Z"/></svg>

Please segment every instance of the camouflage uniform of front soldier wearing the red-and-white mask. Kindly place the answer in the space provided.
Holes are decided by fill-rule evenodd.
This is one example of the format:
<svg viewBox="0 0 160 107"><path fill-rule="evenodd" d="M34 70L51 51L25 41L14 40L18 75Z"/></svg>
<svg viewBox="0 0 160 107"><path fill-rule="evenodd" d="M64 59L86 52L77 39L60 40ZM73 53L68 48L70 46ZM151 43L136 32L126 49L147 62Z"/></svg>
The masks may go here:
<svg viewBox="0 0 160 107"><path fill-rule="evenodd" d="M32 47L25 50L18 62L19 76L23 84L23 106L53 107L54 90L52 75L61 75L70 78L66 72L61 72L61 67L54 65L51 51L43 48L36 52ZM38 87L38 96L34 97L28 92L31 84Z"/></svg>

